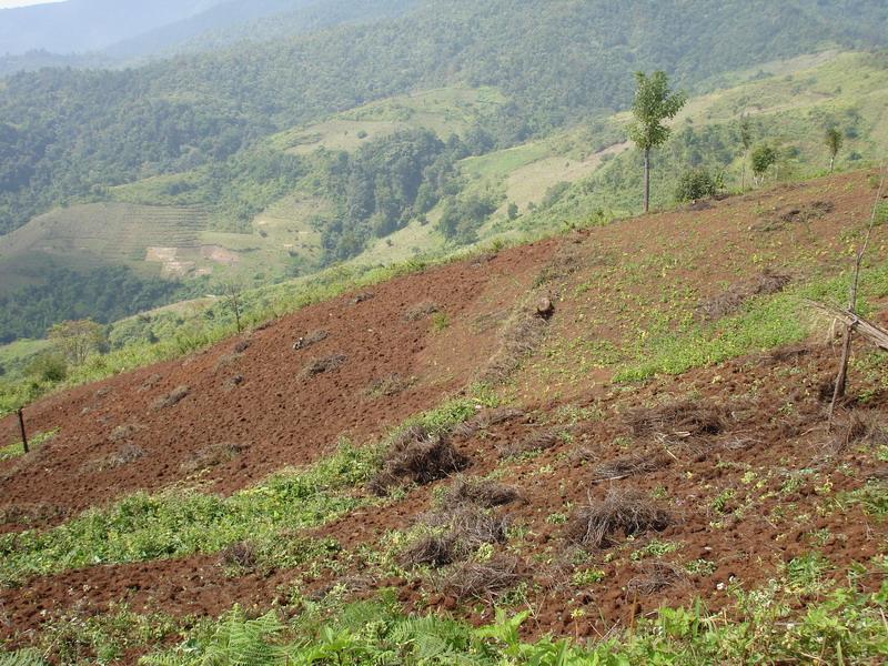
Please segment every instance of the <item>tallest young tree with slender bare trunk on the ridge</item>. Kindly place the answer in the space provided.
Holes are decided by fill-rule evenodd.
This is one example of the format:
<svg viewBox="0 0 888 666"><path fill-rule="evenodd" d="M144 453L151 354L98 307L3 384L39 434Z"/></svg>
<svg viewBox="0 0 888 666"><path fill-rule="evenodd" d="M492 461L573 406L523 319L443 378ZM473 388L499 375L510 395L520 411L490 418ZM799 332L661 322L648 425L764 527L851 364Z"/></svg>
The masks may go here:
<svg viewBox="0 0 888 666"><path fill-rule="evenodd" d="M663 145L669 138L669 128L664 120L675 118L687 97L684 92L672 92L665 72L656 71L649 77L636 72L635 101L632 105L635 122L629 125L629 139L645 154L645 213L650 210L650 151Z"/></svg>

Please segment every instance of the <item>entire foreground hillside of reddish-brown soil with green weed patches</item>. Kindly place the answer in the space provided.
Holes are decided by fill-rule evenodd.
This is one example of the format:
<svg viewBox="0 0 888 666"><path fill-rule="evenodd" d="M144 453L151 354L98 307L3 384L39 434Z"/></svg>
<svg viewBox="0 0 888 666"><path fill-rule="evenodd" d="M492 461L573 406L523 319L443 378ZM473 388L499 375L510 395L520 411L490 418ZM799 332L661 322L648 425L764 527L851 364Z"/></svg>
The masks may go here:
<svg viewBox="0 0 888 666"><path fill-rule="evenodd" d="M32 453L0 422L7 647L878 663L885 357L855 344L830 431L807 305L845 297L876 184L478 252L37 402Z"/></svg>

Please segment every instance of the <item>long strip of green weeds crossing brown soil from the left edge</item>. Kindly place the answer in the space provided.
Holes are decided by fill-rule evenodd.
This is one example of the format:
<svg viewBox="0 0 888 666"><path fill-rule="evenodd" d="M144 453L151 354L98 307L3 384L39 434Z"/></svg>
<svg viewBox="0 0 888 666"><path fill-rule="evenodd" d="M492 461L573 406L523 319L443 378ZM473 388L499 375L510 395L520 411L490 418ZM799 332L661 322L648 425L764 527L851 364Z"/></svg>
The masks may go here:
<svg viewBox="0 0 888 666"><path fill-rule="evenodd" d="M373 447L343 444L304 472L280 472L230 497L192 491L138 493L47 532L6 535L0 537L0 579L10 584L88 565L218 553L242 541L249 541L263 562L295 566L313 548L330 546L284 535L357 506L359 500L337 491L369 478L375 455Z"/></svg>

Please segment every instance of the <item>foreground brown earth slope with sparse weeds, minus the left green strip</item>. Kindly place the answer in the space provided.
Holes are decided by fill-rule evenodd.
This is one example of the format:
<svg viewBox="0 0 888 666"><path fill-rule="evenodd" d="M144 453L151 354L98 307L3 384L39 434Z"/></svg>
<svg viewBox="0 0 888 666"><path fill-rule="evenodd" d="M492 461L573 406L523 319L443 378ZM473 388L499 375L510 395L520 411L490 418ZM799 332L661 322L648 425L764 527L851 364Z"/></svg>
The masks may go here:
<svg viewBox="0 0 888 666"><path fill-rule="evenodd" d="M784 291L796 305L834 293L829 281L847 271L872 204L870 175L706 202L400 278L372 297L349 294L183 362L31 406L32 428L59 434L0 462L6 532L47 531L137 490L196 484L228 495L331 454L341 437L370 443L471 394L509 345L529 350L518 367L497 367L501 406L478 404L445 434L464 476L384 501L351 487L356 508L301 533L335 544L317 562L232 573L224 555L205 553L57 567L2 589L0 630L24 645L60 614L120 602L200 617L234 603L285 605L294 588L313 599L394 588L408 610L482 622L494 605L529 604L526 630L595 638L695 598L729 618L738 591L779 576L803 591L798 608L850 572L855 585L877 589L887 546L884 357L855 347L851 393L830 431L838 350L828 322L769 330L783 321L769 304L793 307ZM874 317L888 297L886 242L879 226L865 289ZM535 321L541 296L554 314L534 344L516 321ZM522 320L527 304L532 319ZM327 336L306 346L316 331ZM14 440L16 423L0 423L0 444ZM220 444L231 460L194 474L195 458ZM446 498L476 477L514 496L487 513L477 500L466 509ZM420 525L456 529L481 514L506 527L471 554L430 561L411 551L428 534ZM815 573L806 578L803 565ZM487 578L467 587L478 571Z"/></svg>

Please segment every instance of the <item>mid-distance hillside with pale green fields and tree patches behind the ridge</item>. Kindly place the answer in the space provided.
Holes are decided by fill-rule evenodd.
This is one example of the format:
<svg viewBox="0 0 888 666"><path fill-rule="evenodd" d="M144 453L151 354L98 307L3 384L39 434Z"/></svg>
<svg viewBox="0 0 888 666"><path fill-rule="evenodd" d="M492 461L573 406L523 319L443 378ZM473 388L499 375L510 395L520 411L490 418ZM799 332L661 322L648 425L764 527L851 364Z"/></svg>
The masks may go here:
<svg viewBox="0 0 888 666"><path fill-rule="evenodd" d="M720 173L729 191L741 189L746 170L749 186L738 138L743 113L755 141L780 151L775 180L824 171L828 125L845 135L839 169L878 161L888 149L887 68L879 53L826 51L734 72L728 87L692 98L674 123L673 140L655 157L655 205L673 205L689 167ZM160 301L138 301L152 305L220 293L229 281L253 287L336 261L372 266L441 256L464 244L584 223L591 214L606 220L639 210L628 114L497 150L480 127L508 104L494 88L395 95L272 134L224 164L117 185L95 196L101 203L37 216L0 238L0 340L39 337L62 319L107 322L111 312L135 312L129 297L105 311L71 302L56 293L61 282L49 280L49 265L80 272L83 283L108 266L125 269L154 295L152 278L173 280ZM406 167L398 145L413 152ZM474 218L472 202L481 204ZM463 222L445 234L440 222L448 211ZM115 241L97 243L97 229ZM22 312L21 303L39 305Z"/></svg>

